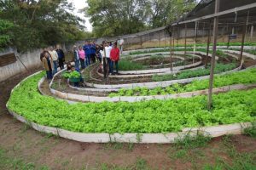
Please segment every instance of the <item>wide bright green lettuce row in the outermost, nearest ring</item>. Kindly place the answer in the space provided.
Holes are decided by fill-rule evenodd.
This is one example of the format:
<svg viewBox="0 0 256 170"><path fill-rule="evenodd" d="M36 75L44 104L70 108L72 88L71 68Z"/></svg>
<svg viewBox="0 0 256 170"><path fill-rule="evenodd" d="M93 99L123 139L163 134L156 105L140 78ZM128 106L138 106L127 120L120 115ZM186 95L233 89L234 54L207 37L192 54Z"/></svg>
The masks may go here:
<svg viewBox="0 0 256 170"><path fill-rule="evenodd" d="M250 72L255 75L255 70ZM9 99L9 109L28 121L74 132L167 133L180 131L183 127L248 122L256 116L256 89L213 95L212 111L207 111L206 96L68 105L38 93L38 81L43 75L30 77L15 88ZM248 78L246 74L244 77Z"/></svg>

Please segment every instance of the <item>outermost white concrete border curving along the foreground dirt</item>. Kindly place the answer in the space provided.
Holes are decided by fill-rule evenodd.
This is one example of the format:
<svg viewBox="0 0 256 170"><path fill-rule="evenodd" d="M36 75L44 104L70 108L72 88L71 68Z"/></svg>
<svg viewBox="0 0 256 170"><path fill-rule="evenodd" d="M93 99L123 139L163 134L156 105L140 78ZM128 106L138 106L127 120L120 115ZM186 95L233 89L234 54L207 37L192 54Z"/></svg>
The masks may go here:
<svg viewBox="0 0 256 170"><path fill-rule="evenodd" d="M39 71L41 72L41 71ZM32 77L38 73L32 74L29 77ZM23 81L24 82L27 78ZM20 83L15 86L18 88ZM13 90L15 89L13 88ZM13 93L12 90L12 93ZM11 94L12 94L11 93ZM214 127L193 127L193 128L183 128L183 131L180 133L74 133L67 131L61 128L56 127L47 127L39 125L35 122L29 122L25 117L18 115L14 111L10 111L8 103L6 108L9 113L14 116L20 122L24 122L30 125L32 128L39 132L43 133L52 133L58 135L65 139L72 139L79 142L90 142L90 143L108 143L108 142L123 142L123 143L159 143L159 144L168 144L175 142L177 138L183 138L183 136L190 133L191 135L196 135L196 133L203 133L205 135L210 135L212 137L222 136L224 134L241 134L244 127L251 127L250 122L244 123L234 123L230 125L220 125Z"/></svg>

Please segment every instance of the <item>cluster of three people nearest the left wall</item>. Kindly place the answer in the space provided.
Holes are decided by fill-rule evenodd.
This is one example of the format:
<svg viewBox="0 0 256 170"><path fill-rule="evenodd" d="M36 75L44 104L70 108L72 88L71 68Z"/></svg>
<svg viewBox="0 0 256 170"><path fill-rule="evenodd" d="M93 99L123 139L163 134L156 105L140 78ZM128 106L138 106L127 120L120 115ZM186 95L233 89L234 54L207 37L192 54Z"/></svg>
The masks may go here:
<svg viewBox="0 0 256 170"><path fill-rule="evenodd" d="M59 45L57 45L56 48L43 48L40 59L46 71L47 79L49 80L52 79L53 75L57 72L58 66L61 70L64 69L65 54Z"/></svg>

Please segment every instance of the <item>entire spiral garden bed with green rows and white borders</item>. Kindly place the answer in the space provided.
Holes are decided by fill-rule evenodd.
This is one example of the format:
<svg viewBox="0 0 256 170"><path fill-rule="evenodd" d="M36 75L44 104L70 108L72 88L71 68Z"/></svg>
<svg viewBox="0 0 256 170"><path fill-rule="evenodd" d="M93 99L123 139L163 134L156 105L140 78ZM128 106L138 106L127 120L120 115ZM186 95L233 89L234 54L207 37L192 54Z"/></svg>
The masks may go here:
<svg viewBox="0 0 256 170"><path fill-rule="evenodd" d="M236 65L236 53L225 50L224 54L218 56L218 63L227 66L233 60L235 66L230 65L229 69L220 66L216 72L212 111L206 107L208 75L201 73L207 70L202 68L206 56L201 51L193 54L200 60L193 58L187 68L179 65L185 70L126 72L109 77L107 84L99 65L91 65L83 73L85 88L73 87L61 77L62 71L48 85L44 72L38 72L13 89L7 108L20 122L40 132L81 142L172 143L188 133L200 132L212 137L237 134L255 120L256 68L247 65L241 70L241 65ZM141 59L137 55L143 56L134 54L131 60L148 59L145 54ZM255 56L245 56L254 64ZM185 56L177 58L186 60ZM163 81L148 82L152 77ZM166 77L172 80L166 81Z"/></svg>

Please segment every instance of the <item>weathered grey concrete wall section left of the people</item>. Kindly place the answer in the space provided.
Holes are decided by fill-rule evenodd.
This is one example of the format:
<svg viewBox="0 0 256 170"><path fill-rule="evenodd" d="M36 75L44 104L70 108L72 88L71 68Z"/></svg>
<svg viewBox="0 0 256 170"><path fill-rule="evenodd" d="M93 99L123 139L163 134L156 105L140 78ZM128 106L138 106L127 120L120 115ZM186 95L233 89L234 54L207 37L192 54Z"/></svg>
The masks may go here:
<svg viewBox="0 0 256 170"><path fill-rule="evenodd" d="M15 75L18 75L21 72L26 71L26 68L28 70L32 70L42 65L39 57L41 53L40 49L35 49L32 51L26 52L25 54L19 54L17 53L17 50L15 48L7 48L0 52L0 56L3 54L9 54L9 53L15 53L17 61L10 65L5 65L3 67L0 67L0 82L3 82L9 77L14 77ZM26 67L22 65L20 61Z"/></svg>

